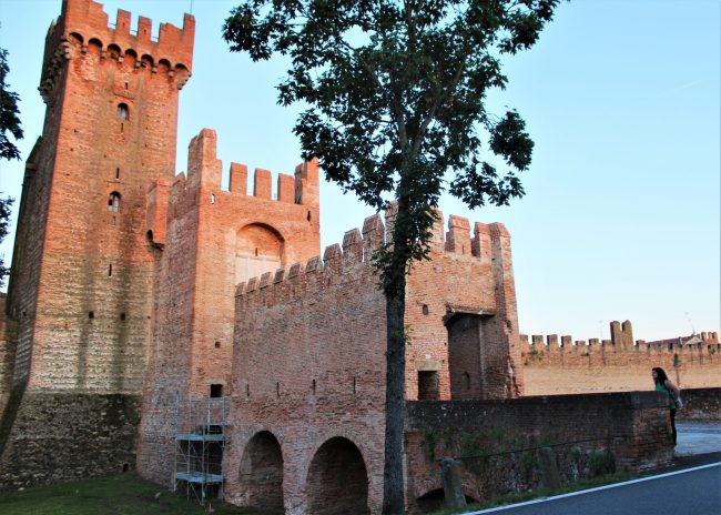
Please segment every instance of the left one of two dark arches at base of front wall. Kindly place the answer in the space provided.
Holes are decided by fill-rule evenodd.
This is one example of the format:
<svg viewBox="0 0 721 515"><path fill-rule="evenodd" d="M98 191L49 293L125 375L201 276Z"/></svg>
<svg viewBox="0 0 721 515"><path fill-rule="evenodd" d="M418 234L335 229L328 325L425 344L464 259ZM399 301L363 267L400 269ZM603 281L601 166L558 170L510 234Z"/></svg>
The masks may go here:
<svg viewBox="0 0 721 515"><path fill-rule="evenodd" d="M263 431L250 440L238 479L244 504L283 513L283 452L272 433Z"/></svg>

